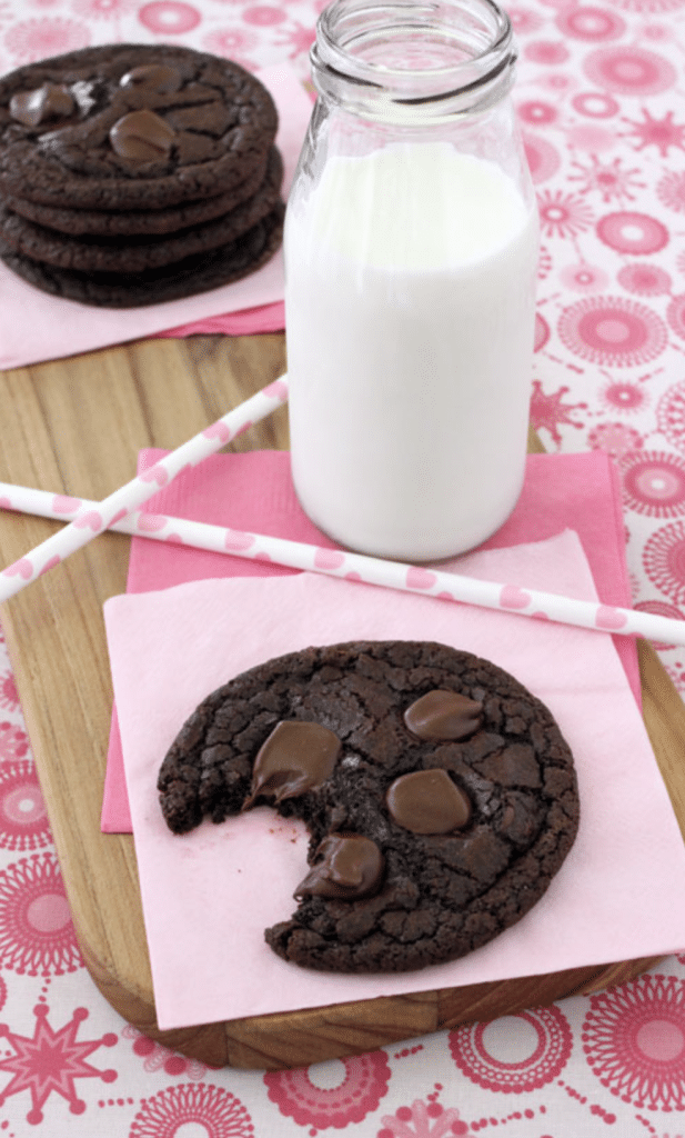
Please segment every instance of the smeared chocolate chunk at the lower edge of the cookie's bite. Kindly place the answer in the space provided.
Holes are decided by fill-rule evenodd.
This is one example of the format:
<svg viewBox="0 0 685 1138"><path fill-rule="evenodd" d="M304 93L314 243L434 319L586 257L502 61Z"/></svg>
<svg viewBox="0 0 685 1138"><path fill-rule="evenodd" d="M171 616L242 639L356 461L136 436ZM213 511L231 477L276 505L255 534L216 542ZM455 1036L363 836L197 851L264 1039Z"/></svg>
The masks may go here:
<svg viewBox="0 0 685 1138"><path fill-rule="evenodd" d="M320 858L321 860L316 860ZM315 855L315 865L294 897L337 897L354 900L378 892L385 858L370 838L329 834Z"/></svg>

